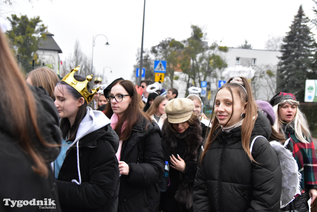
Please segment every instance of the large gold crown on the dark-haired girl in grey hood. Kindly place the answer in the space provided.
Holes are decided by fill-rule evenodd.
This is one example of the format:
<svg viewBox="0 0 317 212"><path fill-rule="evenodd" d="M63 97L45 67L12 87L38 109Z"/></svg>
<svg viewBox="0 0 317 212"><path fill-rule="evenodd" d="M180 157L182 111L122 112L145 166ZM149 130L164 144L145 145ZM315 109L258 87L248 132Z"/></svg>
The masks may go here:
<svg viewBox="0 0 317 212"><path fill-rule="evenodd" d="M79 82L74 79L74 73L79 70L79 65L72 69L69 74L65 75L65 77L61 80L66 82L68 85L75 88L86 100L87 104L93 99L95 93L99 91L99 87L95 87L92 89L92 93L89 93L87 90L87 84L93 79L93 75L88 75L85 81Z"/></svg>

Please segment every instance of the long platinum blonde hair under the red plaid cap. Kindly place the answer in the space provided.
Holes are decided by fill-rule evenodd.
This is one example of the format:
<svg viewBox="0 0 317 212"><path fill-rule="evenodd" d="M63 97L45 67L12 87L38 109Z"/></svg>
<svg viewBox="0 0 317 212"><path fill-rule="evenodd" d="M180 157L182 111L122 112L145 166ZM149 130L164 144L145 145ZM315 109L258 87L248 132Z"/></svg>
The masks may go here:
<svg viewBox="0 0 317 212"><path fill-rule="evenodd" d="M278 108L283 106L284 104L289 104L289 105L295 105L296 106L296 113L294 116L294 119L290 121L289 123L284 122L283 120L280 119L278 116ZM286 126L291 127L295 131L295 136L298 140L300 140L302 143L309 143L310 142L310 131L307 123L307 119L305 115L300 111L298 108L299 102L294 100L294 99L284 99L280 103L276 104L273 106L273 110L275 113L275 123L273 125L273 128L277 132L281 132L285 138L287 138L284 133L283 129L283 124L286 124Z"/></svg>

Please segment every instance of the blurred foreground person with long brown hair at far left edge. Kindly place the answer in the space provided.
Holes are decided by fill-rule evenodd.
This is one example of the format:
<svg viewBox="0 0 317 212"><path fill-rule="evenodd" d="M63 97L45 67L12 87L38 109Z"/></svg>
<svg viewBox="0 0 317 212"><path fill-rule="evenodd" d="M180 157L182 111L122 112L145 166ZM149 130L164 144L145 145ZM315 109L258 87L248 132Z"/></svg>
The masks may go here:
<svg viewBox="0 0 317 212"><path fill-rule="evenodd" d="M61 211L49 165L60 152L57 110L44 89L25 82L1 30L0 63L0 210L16 211L21 206L11 202L35 199L50 200L54 205L48 207ZM5 204L5 200L11 202ZM43 210L36 205L22 206L23 211Z"/></svg>

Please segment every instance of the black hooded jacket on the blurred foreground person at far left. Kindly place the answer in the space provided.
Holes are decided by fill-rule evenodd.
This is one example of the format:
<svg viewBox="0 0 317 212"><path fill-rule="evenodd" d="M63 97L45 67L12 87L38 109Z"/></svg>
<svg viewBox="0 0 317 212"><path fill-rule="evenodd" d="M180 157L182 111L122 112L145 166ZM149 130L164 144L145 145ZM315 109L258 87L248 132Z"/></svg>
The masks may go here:
<svg viewBox="0 0 317 212"><path fill-rule="evenodd" d="M52 98L43 88L29 86L36 100L37 123L43 139L49 144L61 144L61 131L58 127L59 116ZM1 103L0 103L1 104ZM36 174L32 169L34 165L30 156L22 150L14 135L10 134L10 123L4 120L5 111L0 111L0 211L61 211L57 195L55 177L50 162L54 161L60 152L60 147L43 145L35 136L34 129L30 127L29 133L33 137L31 145L36 154L40 154L47 161L48 177ZM17 113L19 113L17 111ZM10 119L10 118L9 118ZM11 207L9 202L5 206L3 199L42 200L44 198L54 201L55 209L40 209L36 205L23 205Z"/></svg>

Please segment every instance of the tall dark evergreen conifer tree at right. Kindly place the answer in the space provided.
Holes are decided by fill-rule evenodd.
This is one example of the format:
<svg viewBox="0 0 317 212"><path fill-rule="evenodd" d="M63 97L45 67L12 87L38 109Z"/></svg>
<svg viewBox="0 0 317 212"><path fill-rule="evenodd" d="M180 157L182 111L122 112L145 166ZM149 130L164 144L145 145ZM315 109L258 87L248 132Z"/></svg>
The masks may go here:
<svg viewBox="0 0 317 212"><path fill-rule="evenodd" d="M296 94L299 101L304 100L305 80L313 62L314 38L308 23L300 6L290 31L283 38L277 68L277 91Z"/></svg>

